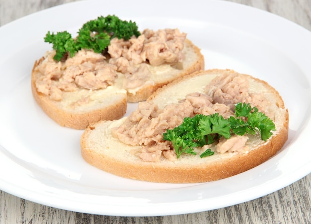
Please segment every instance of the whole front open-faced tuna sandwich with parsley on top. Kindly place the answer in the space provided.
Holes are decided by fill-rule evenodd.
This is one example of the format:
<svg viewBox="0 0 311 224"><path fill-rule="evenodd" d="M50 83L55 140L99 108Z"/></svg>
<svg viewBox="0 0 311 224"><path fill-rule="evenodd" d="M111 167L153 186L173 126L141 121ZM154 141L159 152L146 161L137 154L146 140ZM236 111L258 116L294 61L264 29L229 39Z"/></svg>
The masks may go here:
<svg viewBox="0 0 311 224"><path fill-rule="evenodd" d="M288 138L288 111L268 83L207 70L158 89L128 117L89 125L89 164L142 181L198 183L249 170Z"/></svg>

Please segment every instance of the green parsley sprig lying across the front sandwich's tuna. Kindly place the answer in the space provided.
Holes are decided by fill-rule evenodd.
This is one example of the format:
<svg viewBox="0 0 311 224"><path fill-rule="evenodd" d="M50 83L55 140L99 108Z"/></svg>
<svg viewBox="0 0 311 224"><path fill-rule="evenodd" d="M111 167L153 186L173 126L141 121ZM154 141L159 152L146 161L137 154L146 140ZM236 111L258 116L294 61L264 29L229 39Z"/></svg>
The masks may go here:
<svg viewBox="0 0 311 224"><path fill-rule="evenodd" d="M225 119L219 113L211 115L196 114L194 117L185 117L183 122L163 133L163 140L171 141L177 158L182 153L196 155L195 147L212 144L222 136L229 139L232 134L260 133L261 139L266 141L275 129L273 121L264 113L258 112L256 107L238 103L235 106L235 117ZM214 155L207 149L200 157Z"/></svg>

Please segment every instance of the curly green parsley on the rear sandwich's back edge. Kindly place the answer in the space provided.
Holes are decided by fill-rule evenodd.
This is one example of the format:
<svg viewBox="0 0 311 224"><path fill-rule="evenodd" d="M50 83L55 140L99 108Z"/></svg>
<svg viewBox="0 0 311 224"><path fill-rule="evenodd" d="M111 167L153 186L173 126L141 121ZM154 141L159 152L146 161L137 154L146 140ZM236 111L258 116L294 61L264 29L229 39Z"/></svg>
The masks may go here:
<svg viewBox="0 0 311 224"><path fill-rule="evenodd" d="M140 35L135 22L121 20L115 15L107 15L84 23L78 31L77 38L73 38L68 31L56 34L48 31L44 41L53 44L53 49L56 50L54 59L60 61L66 55L74 56L83 48L102 53L110 45L112 38L128 40L133 35Z"/></svg>

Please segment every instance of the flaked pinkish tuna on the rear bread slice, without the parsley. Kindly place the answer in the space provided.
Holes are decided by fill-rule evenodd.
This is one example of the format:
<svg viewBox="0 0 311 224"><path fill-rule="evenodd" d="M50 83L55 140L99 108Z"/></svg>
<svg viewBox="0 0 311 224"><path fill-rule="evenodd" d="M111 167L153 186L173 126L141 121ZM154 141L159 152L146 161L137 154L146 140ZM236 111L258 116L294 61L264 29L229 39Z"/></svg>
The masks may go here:
<svg viewBox="0 0 311 224"><path fill-rule="evenodd" d="M64 91L79 88L98 90L121 83L118 86L121 89L136 89L150 82L153 67L182 63L185 39L186 34L178 29L146 29L126 41L113 38L104 54L82 49L75 56L57 62L52 50L35 67L40 74L36 87L56 101L63 99ZM117 82L118 78L123 81Z"/></svg>

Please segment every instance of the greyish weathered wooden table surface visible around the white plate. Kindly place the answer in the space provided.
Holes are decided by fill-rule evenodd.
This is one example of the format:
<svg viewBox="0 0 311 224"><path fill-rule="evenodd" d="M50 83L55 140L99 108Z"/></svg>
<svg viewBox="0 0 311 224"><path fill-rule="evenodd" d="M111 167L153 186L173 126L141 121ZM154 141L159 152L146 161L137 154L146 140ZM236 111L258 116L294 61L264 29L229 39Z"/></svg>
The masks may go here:
<svg viewBox="0 0 311 224"><path fill-rule="evenodd" d="M0 0L0 26L74 0ZM311 0L229 0L283 16L311 30ZM310 40L311 41L311 40ZM24 183L26 184L26 183ZM113 217L43 206L0 191L0 223L311 223L311 174L277 192L213 211L159 217Z"/></svg>

